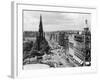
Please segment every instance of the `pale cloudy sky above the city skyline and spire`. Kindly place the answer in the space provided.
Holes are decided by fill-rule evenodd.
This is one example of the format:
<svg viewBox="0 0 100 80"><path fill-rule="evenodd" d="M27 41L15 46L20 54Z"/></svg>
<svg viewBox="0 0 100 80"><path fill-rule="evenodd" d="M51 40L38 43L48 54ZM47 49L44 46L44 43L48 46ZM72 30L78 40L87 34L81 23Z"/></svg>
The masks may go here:
<svg viewBox="0 0 100 80"><path fill-rule="evenodd" d="M24 11L24 31L38 31L40 15L44 31L83 30L91 26L91 14L44 11ZM85 20L88 20L88 25Z"/></svg>

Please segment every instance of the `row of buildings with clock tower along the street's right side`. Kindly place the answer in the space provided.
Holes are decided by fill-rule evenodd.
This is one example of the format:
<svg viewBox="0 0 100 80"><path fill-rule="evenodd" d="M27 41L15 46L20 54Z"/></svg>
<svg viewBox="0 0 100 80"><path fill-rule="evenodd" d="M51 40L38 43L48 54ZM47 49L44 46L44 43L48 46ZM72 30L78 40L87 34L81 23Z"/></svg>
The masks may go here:
<svg viewBox="0 0 100 80"><path fill-rule="evenodd" d="M73 40L69 40L69 46L74 56L79 58L80 66L91 65L91 32L88 27L81 33L73 35Z"/></svg>

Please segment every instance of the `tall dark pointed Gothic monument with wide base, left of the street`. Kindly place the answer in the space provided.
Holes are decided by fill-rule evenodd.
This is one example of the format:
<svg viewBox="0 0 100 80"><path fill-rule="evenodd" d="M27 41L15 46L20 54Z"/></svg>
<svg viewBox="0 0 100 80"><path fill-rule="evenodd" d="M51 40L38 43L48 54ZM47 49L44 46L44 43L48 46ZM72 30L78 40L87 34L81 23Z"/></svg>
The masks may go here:
<svg viewBox="0 0 100 80"><path fill-rule="evenodd" d="M33 47L33 50L37 50L37 54L44 54L44 52L48 53L49 51L49 44L45 39L44 31L43 31L43 24L42 24L42 16L40 15L40 22L39 22L39 31L36 37L36 42ZM34 53L34 51L33 51Z"/></svg>

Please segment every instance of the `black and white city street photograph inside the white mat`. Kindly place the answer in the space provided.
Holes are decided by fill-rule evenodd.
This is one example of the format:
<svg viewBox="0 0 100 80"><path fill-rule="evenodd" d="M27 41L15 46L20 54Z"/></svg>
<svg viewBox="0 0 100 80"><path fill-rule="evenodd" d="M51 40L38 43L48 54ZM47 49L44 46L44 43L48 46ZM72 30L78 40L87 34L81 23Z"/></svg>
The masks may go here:
<svg viewBox="0 0 100 80"><path fill-rule="evenodd" d="M23 70L91 66L91 14L23 10Z"/></svg>

